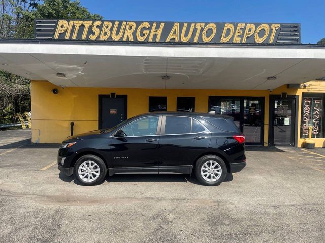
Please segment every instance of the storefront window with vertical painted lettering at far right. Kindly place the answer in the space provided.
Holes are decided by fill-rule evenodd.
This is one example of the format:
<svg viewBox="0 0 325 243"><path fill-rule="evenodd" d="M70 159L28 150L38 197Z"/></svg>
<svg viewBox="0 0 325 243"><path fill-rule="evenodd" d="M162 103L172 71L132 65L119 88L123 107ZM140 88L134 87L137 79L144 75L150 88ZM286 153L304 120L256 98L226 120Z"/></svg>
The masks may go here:
<svg viewBox="0 0 325 243"><path fill-rule="evenodd" d="M311 137L323 138L323 106L324 94L303 93L301 138L308 138L308 127L312 126Z"/></svg>

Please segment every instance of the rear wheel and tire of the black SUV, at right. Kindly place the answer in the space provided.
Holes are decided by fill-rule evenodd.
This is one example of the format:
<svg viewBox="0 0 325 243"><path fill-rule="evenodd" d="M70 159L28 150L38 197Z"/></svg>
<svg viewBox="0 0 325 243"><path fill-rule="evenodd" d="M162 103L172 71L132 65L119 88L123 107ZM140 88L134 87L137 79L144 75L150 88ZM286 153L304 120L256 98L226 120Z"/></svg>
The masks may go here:
<svg viewBox="0 0 325 243"><path fill-rule="evenodd" d="M217 186L225 179L227 167L220 157L205 155L197 160L194 173L202 185Z"/></svg>

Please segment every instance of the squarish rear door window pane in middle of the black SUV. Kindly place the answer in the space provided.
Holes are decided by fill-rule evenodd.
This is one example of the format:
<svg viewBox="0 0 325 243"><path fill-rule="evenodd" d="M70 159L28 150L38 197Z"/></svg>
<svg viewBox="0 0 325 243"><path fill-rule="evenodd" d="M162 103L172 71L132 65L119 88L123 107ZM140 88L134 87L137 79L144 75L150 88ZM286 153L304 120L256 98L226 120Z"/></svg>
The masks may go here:
<svg viewBox="0 0 325 243"><path fill-rule="evenodd" d="M191 118L183 116L166 116L165 134L191 133Z"/></svg>

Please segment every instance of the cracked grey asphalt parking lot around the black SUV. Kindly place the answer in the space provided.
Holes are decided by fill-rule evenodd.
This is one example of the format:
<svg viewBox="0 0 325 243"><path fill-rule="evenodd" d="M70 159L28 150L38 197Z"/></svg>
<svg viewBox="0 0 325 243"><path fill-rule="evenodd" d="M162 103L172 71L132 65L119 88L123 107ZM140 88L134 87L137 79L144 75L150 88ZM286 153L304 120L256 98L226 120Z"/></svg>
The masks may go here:
<svg viewBox="0 0 325 243"><path fill-rule="evenodd" d="M84 187L58 144L0 131L1 242L324 242L325 149L247 148L206 187L187 175L115 175Z"/></svg>

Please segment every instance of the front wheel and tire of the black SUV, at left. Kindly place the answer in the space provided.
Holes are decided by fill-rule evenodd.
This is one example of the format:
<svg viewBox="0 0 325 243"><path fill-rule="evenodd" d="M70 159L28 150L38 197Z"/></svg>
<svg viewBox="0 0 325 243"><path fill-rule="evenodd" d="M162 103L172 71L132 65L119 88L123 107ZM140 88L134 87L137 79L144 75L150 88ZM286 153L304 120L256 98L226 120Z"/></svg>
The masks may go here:
<svg viewBox="0 0 325 243"><path fill-rule="evenodd" d="M101 158L89 154L80 157L76 161L73 172L75 179L82 185L93 186L101 183L105 179L107 168Z"/></svg>

